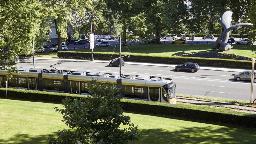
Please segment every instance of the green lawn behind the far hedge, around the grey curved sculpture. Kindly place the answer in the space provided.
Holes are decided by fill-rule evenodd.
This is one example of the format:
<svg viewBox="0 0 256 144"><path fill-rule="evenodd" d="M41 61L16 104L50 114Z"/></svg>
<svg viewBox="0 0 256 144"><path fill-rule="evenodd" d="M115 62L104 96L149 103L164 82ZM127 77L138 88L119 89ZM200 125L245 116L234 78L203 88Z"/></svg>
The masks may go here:
<svg viewBox="0 0 256 144"><path fill-rule="evenodd" d="M199 44L199 45L183 45L183 44L149 44L149 45L128 45L128 49L133 55L147 54L147 55L160 55L160 56L174 56L180 54L198 53L198 52L220 52L218 49L211 49L212 44ZM256 50L256 45L232 45L233 48L224 53L236 54L245 57L255 57L256 54L252 50ZM126 46L121 46L122 55L130 53ZM199 50L197 49L199 48ZM91 52L91 49L80 49L78 51ZM94 48L93 52L107 52L112 53L114 47L99 47ZM115 48L115 53L119 53L119 46ZM57 53L39 53L37 57L56 58Z"/></svg>

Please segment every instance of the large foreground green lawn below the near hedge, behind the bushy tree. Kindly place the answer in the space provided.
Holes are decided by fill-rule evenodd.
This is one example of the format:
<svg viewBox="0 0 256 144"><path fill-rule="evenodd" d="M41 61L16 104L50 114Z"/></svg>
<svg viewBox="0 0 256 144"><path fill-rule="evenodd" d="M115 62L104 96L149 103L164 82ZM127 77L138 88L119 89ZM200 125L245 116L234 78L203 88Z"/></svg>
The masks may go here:
<svg viewBox="0 0 256 144"><path fill-rule="evenodd" d="M53 107L61 104L0 99L0 144L43 144L49 134L67 128ZM219 123L125 113L138 125L138 144L255 143L255 129Z"/></svg>

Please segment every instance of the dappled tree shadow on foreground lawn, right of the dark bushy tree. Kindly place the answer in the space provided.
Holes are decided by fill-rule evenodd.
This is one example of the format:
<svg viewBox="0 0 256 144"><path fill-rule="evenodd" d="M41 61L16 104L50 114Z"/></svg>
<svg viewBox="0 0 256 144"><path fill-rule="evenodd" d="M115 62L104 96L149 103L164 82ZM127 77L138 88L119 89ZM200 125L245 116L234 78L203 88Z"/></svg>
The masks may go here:
<svg viewBox="0 0 256 144"><path fill-rule="evenodd" d="M180 130L167 132L165 129L139 129L141 137L137 143L216 143L250 144L255 143L256 132L240 128L180 127Z"/></svg>

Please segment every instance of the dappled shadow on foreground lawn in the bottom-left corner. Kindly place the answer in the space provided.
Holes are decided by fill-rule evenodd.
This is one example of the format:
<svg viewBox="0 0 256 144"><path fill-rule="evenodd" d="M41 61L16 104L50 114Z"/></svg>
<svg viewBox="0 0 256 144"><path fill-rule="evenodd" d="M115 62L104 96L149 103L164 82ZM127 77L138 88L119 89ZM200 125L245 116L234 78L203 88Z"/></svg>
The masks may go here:
<svg viewBox="0 0 256 144"><path fill-rule="evenodd" d="M39 130L40 131L40 130ZM57 135L57 132L52 133L52 135ZM31 136L27 134L17 134L13 135L9 139L0 139L0 144L46 144L47 139L46 137L49 137L49 135L37 135L37 136Z"/></svg>

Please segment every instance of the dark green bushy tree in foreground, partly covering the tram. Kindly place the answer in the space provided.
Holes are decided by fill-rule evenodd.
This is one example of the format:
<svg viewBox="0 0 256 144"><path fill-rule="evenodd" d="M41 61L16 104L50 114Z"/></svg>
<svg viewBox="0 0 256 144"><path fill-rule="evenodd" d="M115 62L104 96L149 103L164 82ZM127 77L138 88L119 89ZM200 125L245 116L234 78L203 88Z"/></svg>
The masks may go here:
<svg viewBox="0 0 256 144"><path fill-rule="evenodd" d="M48 137L49 144L112 143L122 144L138 140L137 126L123 115L116 84L88 82L91 96L82 99L66 98L64 109L55 107L63 115L63 122L74 131L59 130L57 138ZM127 126L120 129L120 125Z"/></svg>

